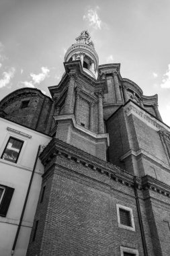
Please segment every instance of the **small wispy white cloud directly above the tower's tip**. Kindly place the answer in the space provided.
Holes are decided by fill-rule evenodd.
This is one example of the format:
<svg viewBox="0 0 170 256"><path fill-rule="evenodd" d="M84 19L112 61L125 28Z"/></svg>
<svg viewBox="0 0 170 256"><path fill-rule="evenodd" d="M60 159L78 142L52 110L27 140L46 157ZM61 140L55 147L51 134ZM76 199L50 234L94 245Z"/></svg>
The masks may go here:
<svg viewBox="0 0 170 256"><path fill-rule="evenodd" d="M89 22L89 26L92 28L95 28L95 30L99 29L101 30L101 19L99 18L99 15L97 14L97 11L99 10L99 7L95 7L94 9L89 8L87 10L87 13L83 15L83 20L86 20Z"/></svg>

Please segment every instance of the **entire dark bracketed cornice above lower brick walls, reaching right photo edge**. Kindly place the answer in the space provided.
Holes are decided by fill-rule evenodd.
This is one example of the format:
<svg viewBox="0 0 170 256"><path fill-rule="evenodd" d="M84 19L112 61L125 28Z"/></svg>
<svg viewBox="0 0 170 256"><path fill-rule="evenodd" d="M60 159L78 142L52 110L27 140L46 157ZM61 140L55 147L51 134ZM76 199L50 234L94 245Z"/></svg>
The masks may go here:
<svg viewBox="0 0 170 256"><path fill-rule="evenodd" d="M54 165L56 156L73 161L75 164L80 164L85 168L90 168L92 171L127 187L134 188L134 186L136 186L140 191L151 189L155 193L161 193L161 195L170 197L169 185L166 185L161 181L157 181L148 175L142 178L134 177L132 174L122 170L118 166L105 162L95 156L91 156L87 152L83 152L83 150L79 150L78 148L56 138L53 138L40 154L40 160L45 166L43 176L45 176L46 173L48 175L48 170L50 170L52 165Z"/></svg>

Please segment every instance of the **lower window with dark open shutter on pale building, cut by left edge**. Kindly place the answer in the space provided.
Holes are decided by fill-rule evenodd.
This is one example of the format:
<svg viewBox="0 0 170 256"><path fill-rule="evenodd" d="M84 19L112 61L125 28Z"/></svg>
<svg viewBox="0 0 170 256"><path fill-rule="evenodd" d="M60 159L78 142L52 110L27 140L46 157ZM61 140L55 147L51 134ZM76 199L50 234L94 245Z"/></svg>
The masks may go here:
<svg viewBox="0 0 170 256"><path fill-rule="evenodd" d="M0 185L0 216L5 217L11 203L14 189Z"/></svg>

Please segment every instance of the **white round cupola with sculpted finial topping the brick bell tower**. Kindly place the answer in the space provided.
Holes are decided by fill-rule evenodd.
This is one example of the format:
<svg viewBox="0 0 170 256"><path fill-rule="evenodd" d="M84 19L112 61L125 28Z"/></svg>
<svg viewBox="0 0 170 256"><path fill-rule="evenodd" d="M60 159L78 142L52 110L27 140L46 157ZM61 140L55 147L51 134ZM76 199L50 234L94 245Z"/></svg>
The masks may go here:
<svg viewBox="0 0 170 256"><path fill-rule="evenodd" d="M99 58L94 49L93 42L90 41L89 32L83 30L75 40L76 43L65 54L65 62L81 60L83 71L97 79Z"/></svg>

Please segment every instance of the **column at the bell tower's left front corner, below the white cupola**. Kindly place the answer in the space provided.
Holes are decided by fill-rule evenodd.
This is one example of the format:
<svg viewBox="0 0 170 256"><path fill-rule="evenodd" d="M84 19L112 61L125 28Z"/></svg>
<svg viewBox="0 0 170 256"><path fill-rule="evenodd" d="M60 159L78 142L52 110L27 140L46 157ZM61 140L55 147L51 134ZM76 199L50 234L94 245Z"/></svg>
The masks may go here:
<svg viewBox="0 0 170 256"><path fill-rule="evenodd" d="M69 86L68 86L68 90L67 90L67 96L66 96L66 100L65 100L65 111L64 111L65 114L73 114L72 101L73 101L74 89L75 89L75 78L71 74Z"/></svg>

